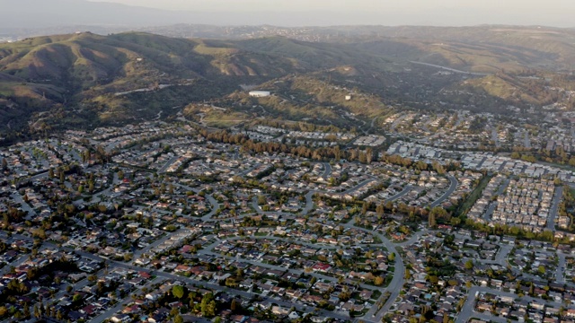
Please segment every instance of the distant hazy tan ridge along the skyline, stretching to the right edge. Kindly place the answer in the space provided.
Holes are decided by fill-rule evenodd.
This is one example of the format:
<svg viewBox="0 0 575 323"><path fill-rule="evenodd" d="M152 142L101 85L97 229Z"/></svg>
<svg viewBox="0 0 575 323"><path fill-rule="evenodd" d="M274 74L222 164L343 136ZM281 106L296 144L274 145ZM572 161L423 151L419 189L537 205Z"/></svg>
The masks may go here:
<svg viewBox="0 0 575 323"><path fill-rule="evenodd" d="M542 26L238 26L218 29L178 25L146 30L171 36L252 38L256 43L285 35L300 41L352 48L377 57L409 59L484 73L500 72L501 69L517 72L526 68L561 71L570 70L575 64L575 30Z"/></svg>

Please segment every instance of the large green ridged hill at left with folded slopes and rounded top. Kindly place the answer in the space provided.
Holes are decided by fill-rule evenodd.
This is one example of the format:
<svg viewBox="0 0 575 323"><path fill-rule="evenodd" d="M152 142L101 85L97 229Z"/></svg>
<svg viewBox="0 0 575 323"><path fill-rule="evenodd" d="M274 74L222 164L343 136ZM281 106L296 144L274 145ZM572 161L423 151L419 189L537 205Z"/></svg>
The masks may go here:
<svg viewBox="0 0 575 323"><path fill-rule="evenodd" d="M26 127L30 120L21 117L31 116L41 120L34 127L66 124L66 118L42 113L50 109L74 111L75 122L92 125L151 118L232 92L240 83L305 72L302 66L309 64L219 40L134 32L24 39L0 44L0 123Z"/></svg>

